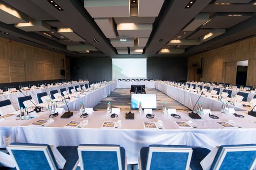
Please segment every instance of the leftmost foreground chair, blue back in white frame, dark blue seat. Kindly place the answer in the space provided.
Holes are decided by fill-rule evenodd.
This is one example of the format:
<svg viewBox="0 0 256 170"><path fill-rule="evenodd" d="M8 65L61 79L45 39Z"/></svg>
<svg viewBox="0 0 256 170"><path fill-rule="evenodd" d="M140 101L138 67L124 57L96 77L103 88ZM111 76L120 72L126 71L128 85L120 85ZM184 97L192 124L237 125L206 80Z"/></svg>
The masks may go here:
<svg viewBox="0 0 256 170"><path fill-rule="evenodd" d="M59 146L57 150L66 163L61 170L73 170L78 164L76 146ZM11 143L7 147L19 170L59 170L52 149L47 144Z"/></svg>

